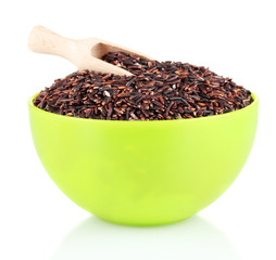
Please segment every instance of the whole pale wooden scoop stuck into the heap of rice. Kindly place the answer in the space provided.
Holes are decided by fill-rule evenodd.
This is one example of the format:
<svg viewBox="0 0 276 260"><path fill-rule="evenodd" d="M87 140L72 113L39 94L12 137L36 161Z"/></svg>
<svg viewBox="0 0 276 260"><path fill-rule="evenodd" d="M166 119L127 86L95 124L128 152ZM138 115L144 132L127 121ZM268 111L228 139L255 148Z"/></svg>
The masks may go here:
<svg viewBox="0 0 276 260"><path fill-rule="evenodd" d="M59 36L43 26L35 26L29 34L28 48L38 53L53 54L65 57L75 66L81 69L91 69L100 73L130 76L129 72L102 61L102 56L108 52L123 51L131 53L146 60L149 56L120 47L117 44L97 39L74 40Z"/></svg>

